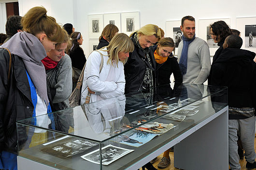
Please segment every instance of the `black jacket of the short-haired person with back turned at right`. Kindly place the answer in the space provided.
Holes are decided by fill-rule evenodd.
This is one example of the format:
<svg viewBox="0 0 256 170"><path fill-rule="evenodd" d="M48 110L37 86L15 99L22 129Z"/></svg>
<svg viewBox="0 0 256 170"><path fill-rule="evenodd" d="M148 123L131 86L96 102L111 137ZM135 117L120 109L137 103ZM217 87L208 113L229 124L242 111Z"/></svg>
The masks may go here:
<svg viewBox="0 0 256 170"><path fill-rule="evenodd" d="M212 85L228 86L228 106L252 108L255 105L255 53L244 49L224 49L212 65Z"/></svg>

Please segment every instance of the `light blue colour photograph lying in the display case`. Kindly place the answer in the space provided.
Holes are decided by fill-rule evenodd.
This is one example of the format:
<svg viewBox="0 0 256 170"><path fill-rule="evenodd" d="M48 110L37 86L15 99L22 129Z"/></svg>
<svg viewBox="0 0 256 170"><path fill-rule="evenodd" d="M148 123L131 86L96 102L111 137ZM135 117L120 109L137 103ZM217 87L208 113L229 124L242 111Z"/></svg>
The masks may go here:
<svg viewBox="0 0 256 170"><path fill-rule="evenodd" d="M132 130L125 134L118 135L112 141L129 146L139 147L151 141L157 134Z"/></svg>

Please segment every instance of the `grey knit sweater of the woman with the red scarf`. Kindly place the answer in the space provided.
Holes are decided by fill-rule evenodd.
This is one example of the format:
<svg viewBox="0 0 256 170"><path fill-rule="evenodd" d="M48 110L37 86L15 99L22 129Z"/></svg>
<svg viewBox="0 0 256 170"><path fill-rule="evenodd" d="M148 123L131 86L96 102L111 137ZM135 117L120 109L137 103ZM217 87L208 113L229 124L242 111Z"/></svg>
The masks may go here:
<svg viewBox="0 0 256 170"><path fill-rule="evenodd" d="M59 108L69 108L69 97L72 91L72 69L71 59L65 54L53 69L46 70L47 83L50 88L56 89L53 103L57 103Z"/></svg>

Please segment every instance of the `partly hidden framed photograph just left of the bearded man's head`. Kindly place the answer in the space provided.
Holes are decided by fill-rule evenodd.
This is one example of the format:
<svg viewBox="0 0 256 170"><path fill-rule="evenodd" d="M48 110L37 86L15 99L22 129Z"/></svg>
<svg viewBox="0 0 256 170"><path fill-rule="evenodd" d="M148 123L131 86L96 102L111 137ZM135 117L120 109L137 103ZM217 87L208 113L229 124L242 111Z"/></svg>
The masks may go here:
<svg viewBox="0 0 256 170"><path fill-rule="evenodd" d="M181 31L181 21L166 21L165 23L165 37L171 37L175 43L175 51L178 51L179 43L183 35ZM177 55L177 52L175 53Z"/></svg>

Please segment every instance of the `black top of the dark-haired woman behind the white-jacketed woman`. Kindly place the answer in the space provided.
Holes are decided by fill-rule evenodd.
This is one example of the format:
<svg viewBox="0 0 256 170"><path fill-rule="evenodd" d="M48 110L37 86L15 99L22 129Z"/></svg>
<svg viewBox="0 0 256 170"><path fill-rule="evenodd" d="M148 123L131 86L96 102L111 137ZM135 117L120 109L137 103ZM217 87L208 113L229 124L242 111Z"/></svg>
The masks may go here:
<svg viewBox="0 0 256 170"><path fill-rule="evenodd" d="M77 47L70 52L72 67L83 70L86 62L84 51L81 47Z"/></svg>

